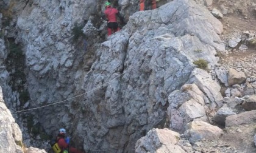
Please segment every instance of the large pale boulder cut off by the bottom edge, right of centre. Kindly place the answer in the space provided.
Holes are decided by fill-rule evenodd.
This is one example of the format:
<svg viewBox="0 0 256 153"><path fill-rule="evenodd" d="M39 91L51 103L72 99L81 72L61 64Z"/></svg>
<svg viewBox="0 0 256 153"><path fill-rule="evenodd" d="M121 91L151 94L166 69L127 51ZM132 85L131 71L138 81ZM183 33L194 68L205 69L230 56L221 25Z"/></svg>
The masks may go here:
<svg viewBox="0 0 256 153"><path fill-rule="evenodd" d="M169 129L151 129L145 137L140 138L135 146L135 152L176 152L185 153L177 145L180 134Z"/></svg>

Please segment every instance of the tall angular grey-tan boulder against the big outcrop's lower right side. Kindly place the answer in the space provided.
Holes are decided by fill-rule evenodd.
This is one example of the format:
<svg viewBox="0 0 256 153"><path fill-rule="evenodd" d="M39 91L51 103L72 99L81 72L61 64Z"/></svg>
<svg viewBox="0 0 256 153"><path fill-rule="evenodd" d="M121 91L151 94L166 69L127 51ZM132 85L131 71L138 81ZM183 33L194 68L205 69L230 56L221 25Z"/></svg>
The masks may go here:
<svg viewBox="0 0 256 153"><path fill-rule="evenodd" d="M168 97L170 126L183 131L185 124L194 118L204 118L206 116L205 100L207 98L196 84L185 84L180 90L172 92Z"/></svg>

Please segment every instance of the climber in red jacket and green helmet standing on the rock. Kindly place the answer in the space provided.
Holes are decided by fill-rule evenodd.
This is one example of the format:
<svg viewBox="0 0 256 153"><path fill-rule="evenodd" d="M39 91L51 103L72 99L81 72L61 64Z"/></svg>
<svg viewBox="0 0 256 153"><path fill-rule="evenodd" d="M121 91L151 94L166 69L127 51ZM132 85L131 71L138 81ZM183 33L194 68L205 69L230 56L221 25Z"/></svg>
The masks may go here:
<svg viewBox="0 0 256 153"><path fill-rule="evenodd" d="M120 19L122 23L124 22L123 16L118 12L117 9L113 8L110 2L105 2L104 18L107 18L107 35L112 35L113 32L118 32L120 28L118 27L118 22L116 16ZM113 31L113 32L112 32Z"/></svg>

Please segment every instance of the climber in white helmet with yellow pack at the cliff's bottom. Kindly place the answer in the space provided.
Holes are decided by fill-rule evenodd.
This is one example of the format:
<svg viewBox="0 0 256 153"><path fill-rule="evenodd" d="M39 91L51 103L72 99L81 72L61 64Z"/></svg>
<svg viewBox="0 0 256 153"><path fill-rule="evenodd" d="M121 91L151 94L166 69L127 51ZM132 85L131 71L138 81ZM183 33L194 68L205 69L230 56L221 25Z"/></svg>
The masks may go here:
<svg viewBox="0 0 256 153"><path fill-rule="evenodd" d="M56 142L58 143L59 148L62 150L62 152L65 152L65 150L67 150L68 153L85 153L83 151L79 151L76 148L69 147L68 145L69 142L67 143L65 140L65 134L66 134L66 130L62 128L59 130L59 134L57 135L57 138L56 138Z"/></svg>

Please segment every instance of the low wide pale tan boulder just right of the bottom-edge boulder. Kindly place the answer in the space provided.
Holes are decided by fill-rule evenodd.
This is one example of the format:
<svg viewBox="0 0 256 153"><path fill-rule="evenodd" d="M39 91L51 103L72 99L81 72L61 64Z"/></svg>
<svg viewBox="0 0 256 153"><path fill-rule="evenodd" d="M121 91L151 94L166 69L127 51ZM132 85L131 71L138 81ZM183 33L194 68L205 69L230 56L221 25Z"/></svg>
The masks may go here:
<svg viewBox="0 0 256 153"><path fill-rule="evenodd" d="M186 126L185 137L189 138L191 143L201 141L203 139L213 140L219 138L223 131L218 126L213 126L204 121L191 121Z"/></svg>

